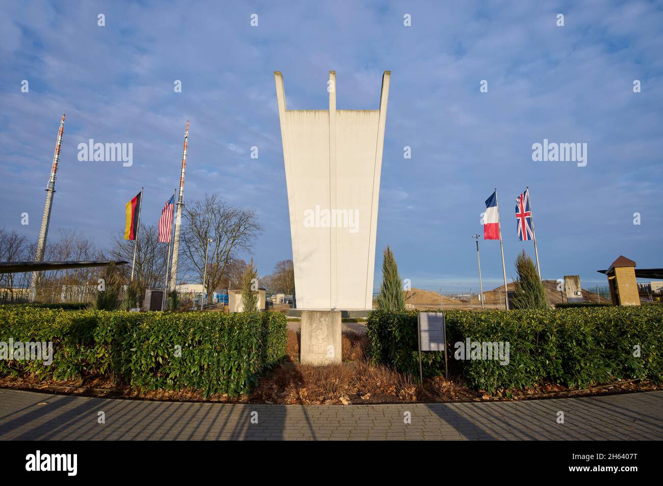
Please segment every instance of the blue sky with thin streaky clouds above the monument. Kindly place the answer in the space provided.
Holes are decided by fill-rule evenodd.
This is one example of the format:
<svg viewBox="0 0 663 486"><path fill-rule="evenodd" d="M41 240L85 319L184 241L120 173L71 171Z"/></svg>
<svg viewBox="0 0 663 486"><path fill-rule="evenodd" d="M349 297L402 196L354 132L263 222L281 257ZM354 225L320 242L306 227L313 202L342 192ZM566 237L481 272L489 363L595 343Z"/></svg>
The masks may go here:
<svg viewBox="0 0 663 486"><path fill-rule="evenodd" d="M63 112L50 236L76 229L100 246L123 228L124 205L141 186L143 222L158 220L178 185L190 119L186 199L219 192L254 207L265 232L253 258L270 273L292 255L272 73L284 75L289 109L326 109L330 70L339 109L377 109L391 70L376 287L389 244L414 287L477 289L471 235L483 232L479 214L494 187L508 277L522 248L534 253L518 241L513 215L526 186L544 278L579 274L588 288L607 284L596 270L620 254L638 267L663 264L661 2L4 1L2 9L0 225L31 240ZM77 146L90 138L133 143L133 166L79 162ZM544 138L587 143L587 166L533 162L532 144ZM481 248L484 288L493 288L499 242Z"/></svg>

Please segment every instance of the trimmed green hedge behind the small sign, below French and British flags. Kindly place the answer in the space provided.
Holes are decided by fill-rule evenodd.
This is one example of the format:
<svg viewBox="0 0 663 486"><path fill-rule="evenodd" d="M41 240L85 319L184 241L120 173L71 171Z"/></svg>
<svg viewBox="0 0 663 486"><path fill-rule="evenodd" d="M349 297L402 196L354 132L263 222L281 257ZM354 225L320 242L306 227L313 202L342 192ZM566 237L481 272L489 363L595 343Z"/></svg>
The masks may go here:
<svg viewBox="0 0 663 486"><path fill-rule="evenodd" d="M607 307L544 311L444 311L450 370L469 387L494 393L544 381L587 387L615 379L663 373L663 309ZM416 311L367 321L368 356L402 373L418 375ZM456 360L455 343L509 342L509 364L497 360ZM634 346L640 346L636 358ZM444 352L423 352L424 375L444 374Z"/></svg>

